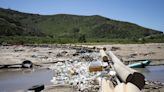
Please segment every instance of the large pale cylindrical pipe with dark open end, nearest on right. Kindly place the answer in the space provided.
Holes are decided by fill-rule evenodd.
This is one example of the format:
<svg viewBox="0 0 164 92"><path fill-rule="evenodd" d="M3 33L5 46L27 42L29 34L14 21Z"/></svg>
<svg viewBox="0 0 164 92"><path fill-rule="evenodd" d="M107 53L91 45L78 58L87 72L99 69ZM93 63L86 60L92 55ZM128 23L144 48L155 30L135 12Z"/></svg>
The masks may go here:
<svg viewBox="0 0 164 92"><path fill-rule="evenodd" d="M120 79L124 82L131 82L139 89L142 89L145 85L145 77L141 73L134 69L125 66L120 59L118 59L111 51L109 55L114 63L114 69L117 72Z"/></svg>

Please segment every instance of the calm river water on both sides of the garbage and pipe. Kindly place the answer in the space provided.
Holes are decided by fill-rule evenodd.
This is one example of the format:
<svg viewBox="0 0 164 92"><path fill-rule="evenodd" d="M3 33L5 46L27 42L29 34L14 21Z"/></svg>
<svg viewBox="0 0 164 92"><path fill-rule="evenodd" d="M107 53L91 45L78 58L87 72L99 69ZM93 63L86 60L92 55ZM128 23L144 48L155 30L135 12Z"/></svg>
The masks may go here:
<svg viewBox="0 0 164 92"><path fill-rule="evenodd" d="M146 79L164 83L164 66L147 66L136 69L142 72ZM34 85L49 85L53 72L47 69L1 69L0 70L0 92L22 92Z"/></svg>

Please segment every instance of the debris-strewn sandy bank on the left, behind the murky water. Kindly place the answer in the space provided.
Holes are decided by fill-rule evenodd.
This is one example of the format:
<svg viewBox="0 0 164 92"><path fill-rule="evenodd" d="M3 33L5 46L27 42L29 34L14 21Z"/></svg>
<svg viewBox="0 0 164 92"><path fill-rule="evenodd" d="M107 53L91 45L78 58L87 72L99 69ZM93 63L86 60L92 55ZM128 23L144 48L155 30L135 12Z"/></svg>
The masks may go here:
<svg viewBox="0 0 164 92"><path fill-rule="evenodd" d="M22 63L30 60L33 63L46 63L72 59L75 50L69 48L33 47L33 46L0 46L0 64Z"/></svg>

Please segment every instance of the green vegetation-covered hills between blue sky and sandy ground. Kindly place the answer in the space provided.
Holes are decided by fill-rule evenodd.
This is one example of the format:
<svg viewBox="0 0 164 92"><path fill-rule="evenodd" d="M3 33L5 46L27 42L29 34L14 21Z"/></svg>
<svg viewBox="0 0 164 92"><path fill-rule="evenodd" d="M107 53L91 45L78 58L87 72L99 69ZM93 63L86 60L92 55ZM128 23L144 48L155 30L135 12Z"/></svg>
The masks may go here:
<svg viewBox="0 0 164 92"><path fill-rule="evenodd" d="M160 31L98 15L39 15L0 8L0 43L164 42L163 38Z"/></svg>

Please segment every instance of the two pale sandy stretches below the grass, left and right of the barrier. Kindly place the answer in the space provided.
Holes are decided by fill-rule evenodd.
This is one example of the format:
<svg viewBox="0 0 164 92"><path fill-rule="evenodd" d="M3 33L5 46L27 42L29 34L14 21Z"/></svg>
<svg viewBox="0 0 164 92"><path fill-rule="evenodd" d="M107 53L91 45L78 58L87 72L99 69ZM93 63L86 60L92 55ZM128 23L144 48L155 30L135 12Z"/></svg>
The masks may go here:
<svg viewBox="0 0 164 92"><path fill-rule="evenodd" d="M153 61L152 64L164 64L164 43L97 46L106 47L107 51L112 50L123 61L149 59ZM24 60L31 60L35 63L77 58L72 56L76 50L70 48L0 46L0 52L0 64L21 63Z"/></svg>

